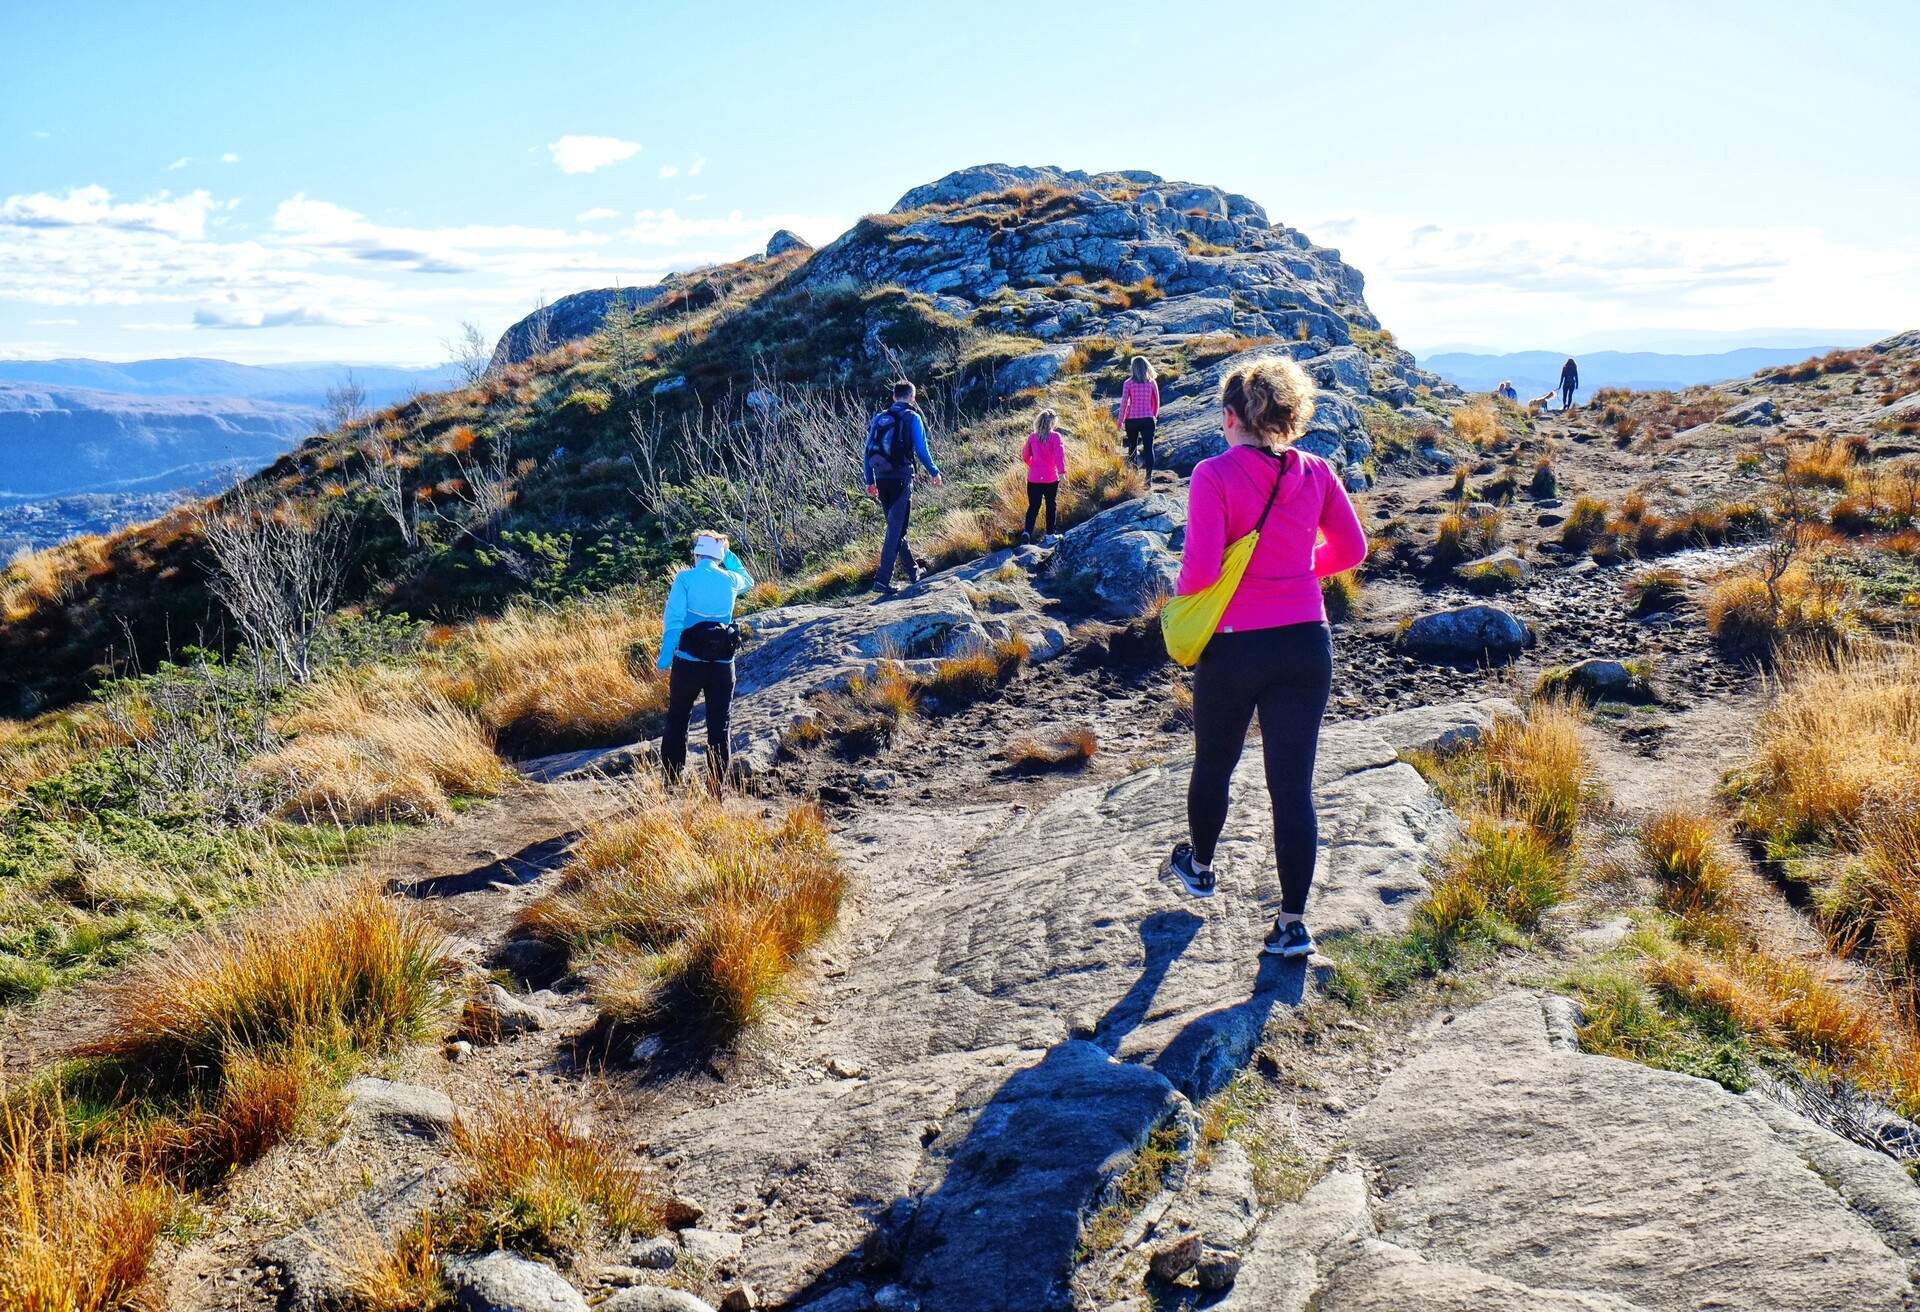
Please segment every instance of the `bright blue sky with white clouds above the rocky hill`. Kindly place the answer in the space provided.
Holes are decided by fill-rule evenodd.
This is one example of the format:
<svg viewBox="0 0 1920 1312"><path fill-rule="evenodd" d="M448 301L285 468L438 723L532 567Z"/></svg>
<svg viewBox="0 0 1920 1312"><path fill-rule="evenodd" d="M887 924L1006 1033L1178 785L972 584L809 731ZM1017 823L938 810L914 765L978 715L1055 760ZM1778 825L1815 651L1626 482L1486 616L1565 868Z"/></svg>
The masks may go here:
<svg viewBox="0 0 1920 1312"><path fill-rule="evenodd" d="M1920 323L1914 4L0 0L0 355L419 361L989 159L1246 192L1417 350Z"/></svg>

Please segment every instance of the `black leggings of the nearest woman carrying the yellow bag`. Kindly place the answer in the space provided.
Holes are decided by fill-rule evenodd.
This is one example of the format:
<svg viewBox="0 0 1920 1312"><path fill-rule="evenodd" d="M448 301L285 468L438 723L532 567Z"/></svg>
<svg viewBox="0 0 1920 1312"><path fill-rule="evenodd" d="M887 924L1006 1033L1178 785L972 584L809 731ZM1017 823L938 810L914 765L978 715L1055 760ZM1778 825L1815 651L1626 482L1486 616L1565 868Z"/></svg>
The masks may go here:
<svg viewBox="0 0 1920 1312"><path fill-rule="evenodd" d="M1332 634L1325 624L1283 624L1213 634L1194 668L1194 772L1187 826L1194 861L1212 864L1227 824L1227 786L1260 713L1260 747L1273 799L1273 855L1281 911L1302 914L1313 886L1319 822L1313 816L1313 753L1332 686Z"/></svg>

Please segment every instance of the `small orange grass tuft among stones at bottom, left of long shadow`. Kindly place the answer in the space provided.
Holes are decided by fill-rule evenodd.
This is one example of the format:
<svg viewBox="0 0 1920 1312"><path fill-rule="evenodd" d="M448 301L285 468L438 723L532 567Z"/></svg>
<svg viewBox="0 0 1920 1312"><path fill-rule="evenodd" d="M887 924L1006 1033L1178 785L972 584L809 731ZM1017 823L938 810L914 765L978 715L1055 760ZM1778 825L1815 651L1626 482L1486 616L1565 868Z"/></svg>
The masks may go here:
<svg viewBox="0 0 1920 1312"><path fill-rule="evenodd" d="M612 1149L551 1097L495 1095L455 1126L453 1147L461 1178L447 1231L457 1249L564 1258L603 1237L655 1235L666 1220L659 1185L616 1164Z"/></svg>

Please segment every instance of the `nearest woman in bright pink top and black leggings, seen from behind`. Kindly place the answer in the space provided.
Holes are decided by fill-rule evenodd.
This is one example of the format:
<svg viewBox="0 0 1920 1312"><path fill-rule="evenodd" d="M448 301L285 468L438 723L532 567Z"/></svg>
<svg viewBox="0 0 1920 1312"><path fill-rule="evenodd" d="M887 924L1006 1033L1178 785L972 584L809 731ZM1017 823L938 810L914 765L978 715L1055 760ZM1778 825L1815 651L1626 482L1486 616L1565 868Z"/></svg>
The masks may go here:
<svg viewBox="0 0 1920 1312"><path fill-rule="evenodd" d="M1219 388L1227 451L1200 461L1187 494L1181 595L1219 578L1227 544L1256 524L1260 546L1238 592L1194 668L1194 770L1187 784L1190 843L1173 849L1173 874L1194 897L1213 895L1213 847L1227 824L1227 786L1260 715L1281 914L1265 951L1306 957L1302 920L1313 884L1313 753L1332 684L1332 634L1319 580L1354 569L1367 536L1346 488L1317 455L1292 442L1313 417L1313 382L1300 365L1269 357L1235 369Z"/></svg>

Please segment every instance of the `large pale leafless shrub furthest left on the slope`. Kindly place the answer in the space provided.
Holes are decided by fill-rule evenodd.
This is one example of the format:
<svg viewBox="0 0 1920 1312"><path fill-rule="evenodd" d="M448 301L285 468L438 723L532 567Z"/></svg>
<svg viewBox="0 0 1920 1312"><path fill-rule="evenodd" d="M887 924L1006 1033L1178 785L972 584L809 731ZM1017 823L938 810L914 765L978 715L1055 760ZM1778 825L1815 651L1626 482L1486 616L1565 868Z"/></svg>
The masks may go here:
<svg viewBox="0 0 1920 1312"><path fill-rule="evenodd" d="M334 609L348 561L348 521L259 484L240 484L200 519L213 553L213 595L232 613L261 667L313 678L313 636Z"/></svg>

